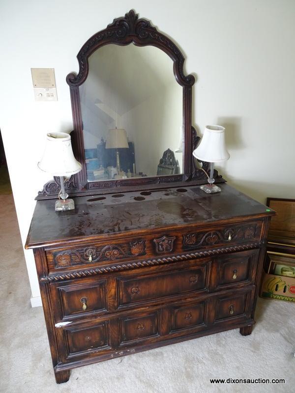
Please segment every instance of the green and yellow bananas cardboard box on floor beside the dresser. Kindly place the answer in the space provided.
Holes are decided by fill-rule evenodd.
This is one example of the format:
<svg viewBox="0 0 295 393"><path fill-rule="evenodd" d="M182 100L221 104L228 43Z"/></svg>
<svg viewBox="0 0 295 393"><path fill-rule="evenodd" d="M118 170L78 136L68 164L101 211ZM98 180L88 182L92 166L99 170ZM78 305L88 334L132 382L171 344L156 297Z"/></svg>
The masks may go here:
<svg viewBox="0 0 295 393"><path fill-rule="evenodd" d="M295 278L264 273L260 297L295 302Z"/></svg>

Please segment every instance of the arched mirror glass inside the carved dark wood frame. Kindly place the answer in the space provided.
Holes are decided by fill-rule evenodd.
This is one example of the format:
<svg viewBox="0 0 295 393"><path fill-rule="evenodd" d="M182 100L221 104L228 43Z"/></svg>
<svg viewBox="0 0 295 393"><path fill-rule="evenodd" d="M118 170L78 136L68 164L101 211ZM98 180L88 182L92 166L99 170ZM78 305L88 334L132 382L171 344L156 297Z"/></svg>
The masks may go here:
<svg viewBox="0 0 295 393"><path fill-rule="evenodd" d="M79 93L89 182L182 173L182 87L163 51L105 45Z"/></svg>

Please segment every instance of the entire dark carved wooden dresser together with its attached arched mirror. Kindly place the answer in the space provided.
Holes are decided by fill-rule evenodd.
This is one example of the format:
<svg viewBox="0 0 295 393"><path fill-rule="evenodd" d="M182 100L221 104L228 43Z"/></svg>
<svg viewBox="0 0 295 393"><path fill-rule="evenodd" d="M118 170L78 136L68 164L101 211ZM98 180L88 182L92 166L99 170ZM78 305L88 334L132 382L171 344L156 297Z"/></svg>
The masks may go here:
<svg viewBox="0 0 295 393"><path fill-rule="evenodd" d="M194 77L180 50L130 11L89 38L78 61L67 76L83 166L66 183L75 210L55 212L58 179L47 183L26 242L57 383L81 365L251 334L274 212L217 173L222 192L200 191Z"/></svg>

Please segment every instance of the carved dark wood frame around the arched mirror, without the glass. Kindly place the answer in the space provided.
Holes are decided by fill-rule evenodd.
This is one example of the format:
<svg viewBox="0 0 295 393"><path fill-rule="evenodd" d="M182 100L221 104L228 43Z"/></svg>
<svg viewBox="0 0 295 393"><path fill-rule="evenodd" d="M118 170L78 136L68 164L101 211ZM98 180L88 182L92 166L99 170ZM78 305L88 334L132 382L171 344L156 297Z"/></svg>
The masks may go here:
<svg viewBox="0 0 295 393"><path fill-rule="evenodd" d="M84 152L83 125L80 106L79 86L85 82L89 73L89 56L100 47L108 44L126 46L152 45L161 49L173 60L174 76L182 86L182 118L183 118L183 173L175 175L148 176L144 178L127 178L88 182ZM193 184L204 184L207 176L204 170L197 168L192 152L200 138L192 127L192 86L195 83L193 75L185 75L183 71L184 56L177 45L166 35L159 32L146 19L139 19L138 14L130 10L124 17L114 19L113 23L104 30L92 35L82 46L77 55L79 73L70 73L66 82L70 87L70 96L73 114L73 128L71 140L76 159L82 164L81 172L73 175L65 182L65 189L71 196L97 195L146 189L168 188ZM208 169L208 163L203 163L203 168ZM223 182L222 176L214 171L216 182ZM187 184L189 182L189 184ZM132 187L132 188L131 188ZM38 193L36 199L54 198L60 189L59 178L49 181Z"/></svg>

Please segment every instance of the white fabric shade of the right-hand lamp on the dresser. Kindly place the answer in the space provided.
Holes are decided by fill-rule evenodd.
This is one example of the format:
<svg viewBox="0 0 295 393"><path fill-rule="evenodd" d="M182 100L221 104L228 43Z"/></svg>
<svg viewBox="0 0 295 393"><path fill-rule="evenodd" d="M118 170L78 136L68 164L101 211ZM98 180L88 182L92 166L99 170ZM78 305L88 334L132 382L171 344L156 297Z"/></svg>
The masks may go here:
<svg viewBox="0 0 295 393"><path fill-rule="evenodd" d="M206 126L199 146L193 151L198 160L217 163L230 158L225 145L225 128L222 126Z"/></svg>

